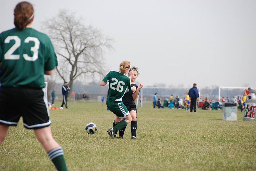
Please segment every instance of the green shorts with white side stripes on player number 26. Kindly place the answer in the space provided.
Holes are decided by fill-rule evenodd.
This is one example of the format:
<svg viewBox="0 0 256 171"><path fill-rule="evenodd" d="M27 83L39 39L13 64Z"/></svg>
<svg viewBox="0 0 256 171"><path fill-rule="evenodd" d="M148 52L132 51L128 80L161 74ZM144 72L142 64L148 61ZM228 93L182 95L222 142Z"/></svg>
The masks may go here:
<svg viewBox="0 0 256 171"><path fill-rule="evenodd" d="M107 100L108 109L117 115L119 118L124 119L129 113L128 109L125 107L123 102L113 102Z"/></svg>

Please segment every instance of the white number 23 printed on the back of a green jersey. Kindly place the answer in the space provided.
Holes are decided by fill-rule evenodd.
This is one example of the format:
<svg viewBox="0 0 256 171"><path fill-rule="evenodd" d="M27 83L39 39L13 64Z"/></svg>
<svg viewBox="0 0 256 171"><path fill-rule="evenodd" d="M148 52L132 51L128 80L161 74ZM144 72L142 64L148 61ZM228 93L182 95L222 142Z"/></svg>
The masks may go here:
<svg viewBox="0 0 256 171"><path fill-rule="evenodd" d="M4 40L4 43L10 43L11 40L14 40L15 44L4 54L4 59L20 59L20 55L12 54L20 47L20 38L16 35L8 36ZM23 54L23 58L28 61L35 61L38 58L40 41L36 37L27 37L24 43L29 43L30 41L35 42L35 45L30 48L30 51L34 52L34 55L30 57L28 54Z"/></svg>

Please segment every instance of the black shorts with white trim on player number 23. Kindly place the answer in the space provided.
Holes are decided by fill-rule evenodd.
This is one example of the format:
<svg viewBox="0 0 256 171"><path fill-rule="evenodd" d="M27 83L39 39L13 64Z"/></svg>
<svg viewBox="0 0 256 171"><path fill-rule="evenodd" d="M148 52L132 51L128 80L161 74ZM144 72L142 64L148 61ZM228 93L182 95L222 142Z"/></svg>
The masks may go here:
<svg viewBox="0 0 256 171"><path fill-rule="evenodd" d="M20 117L27 129L51 125L45 89L28 87L1 87L0 124L17 126Z"/></svg>

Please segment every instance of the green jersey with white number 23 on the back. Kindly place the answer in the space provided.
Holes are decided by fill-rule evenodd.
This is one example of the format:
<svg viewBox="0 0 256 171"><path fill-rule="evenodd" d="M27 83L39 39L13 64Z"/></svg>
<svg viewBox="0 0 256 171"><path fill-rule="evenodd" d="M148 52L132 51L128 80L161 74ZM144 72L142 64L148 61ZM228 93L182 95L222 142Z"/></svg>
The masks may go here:
<svg viewBox="0 0 256 171"><path fill-rule="evenodd" d="M50 38L33 28L0 34L1 86L44 88L44 71L58 65Z"/></svg>

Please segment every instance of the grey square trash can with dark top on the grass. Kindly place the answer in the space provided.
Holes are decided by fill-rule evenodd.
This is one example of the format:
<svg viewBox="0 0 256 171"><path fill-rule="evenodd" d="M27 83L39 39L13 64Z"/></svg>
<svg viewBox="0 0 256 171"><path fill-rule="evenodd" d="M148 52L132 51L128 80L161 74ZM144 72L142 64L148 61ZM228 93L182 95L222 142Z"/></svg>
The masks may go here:
<svg viewBox="0 0 256 171"><path fill-rule="evenodd" d="M222 120L236 120L236 103L223 103Z"/></svg>

